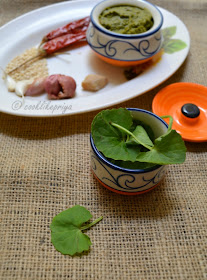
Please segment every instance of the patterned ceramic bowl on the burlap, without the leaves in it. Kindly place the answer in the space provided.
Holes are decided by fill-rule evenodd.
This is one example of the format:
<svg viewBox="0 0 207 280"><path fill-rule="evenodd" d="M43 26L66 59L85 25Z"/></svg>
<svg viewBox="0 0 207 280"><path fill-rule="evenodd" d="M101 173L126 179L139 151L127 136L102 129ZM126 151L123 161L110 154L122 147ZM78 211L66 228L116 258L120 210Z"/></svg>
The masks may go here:
<svg viewBox="0 0 207 280"><path fill-rule="evenodd" d="M157 115L142 109L130 108L134 119L149 125L155 137L166 133L168 125ZM91 168L95 178L107 189L125 195L142 194L155 188L164 177L166 166L147 169L126 169L109 162L100 153L90 136Z"/></svg>

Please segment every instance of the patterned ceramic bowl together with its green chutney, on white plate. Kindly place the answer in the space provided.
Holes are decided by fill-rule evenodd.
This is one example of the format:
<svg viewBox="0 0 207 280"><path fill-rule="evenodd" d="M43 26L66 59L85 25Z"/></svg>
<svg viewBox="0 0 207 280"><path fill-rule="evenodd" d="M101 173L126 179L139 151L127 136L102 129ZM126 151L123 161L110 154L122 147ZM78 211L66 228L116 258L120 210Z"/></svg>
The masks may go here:
<svg viewBox="0 0 207 280"><path fill-rule="evenodd" d="M146 15L140 15L140 18L136 18L125 28L134 19L130 8L149 12L152 24L150 25L148 18L143 20ZM108 9L111 9L111 12ZM102 15L105 17L103 20ZM161 49L163 16L155 5L147 1L101 1L93 8L90 18L88 44L95 54L107 63L116 66L137 65L150 60Z"/></svg>

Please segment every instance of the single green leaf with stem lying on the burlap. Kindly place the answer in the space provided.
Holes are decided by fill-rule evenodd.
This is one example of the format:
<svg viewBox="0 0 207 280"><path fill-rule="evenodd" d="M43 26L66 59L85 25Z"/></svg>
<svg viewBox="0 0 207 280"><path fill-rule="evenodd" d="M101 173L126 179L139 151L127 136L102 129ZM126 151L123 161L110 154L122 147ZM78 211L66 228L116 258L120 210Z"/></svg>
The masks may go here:
<svg viewBox="0 0 207 280"><path fill-rule="evenodd" d="M92 218L91 213L82 206L76 205L53 218L50 225L51 242L55 249L64 255L75 255L88 251L91 245L90 238L82 231L99 222L102 217L93 223L83 225Z"/></svg>

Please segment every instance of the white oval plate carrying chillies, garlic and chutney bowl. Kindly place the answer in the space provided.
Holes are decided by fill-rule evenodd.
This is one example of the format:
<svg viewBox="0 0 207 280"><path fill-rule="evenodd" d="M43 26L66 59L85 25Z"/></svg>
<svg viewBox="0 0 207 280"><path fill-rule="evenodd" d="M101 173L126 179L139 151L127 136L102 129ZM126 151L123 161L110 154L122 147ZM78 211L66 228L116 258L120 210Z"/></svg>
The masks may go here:
<svg viewBox="0 0 207 280"><path fill-rule="evenodd" d="M34 10L20 16L0 28L0 66L6 65L26 49L37 46L49 31L90 14L97 1L68 1ZM66 100L48 100L47 95L25 97L8 92L0 78L0 111L27 117L51 117L89 112L121 103L141 95L169 78L183 63L190 47L190 36L183 22L172 13L160 8L164 16L163 28L176 26L172 38L187 44L184 49L167 54L153 67L138 77L126 81L123 68L106 64L95 56L85 44L48 59L50 74L72 76L77 83L76 96ZM9 34L9 36L8 36ZM108 77L108 85L96 93L82 90L81 82L91 73Z"/></svg>

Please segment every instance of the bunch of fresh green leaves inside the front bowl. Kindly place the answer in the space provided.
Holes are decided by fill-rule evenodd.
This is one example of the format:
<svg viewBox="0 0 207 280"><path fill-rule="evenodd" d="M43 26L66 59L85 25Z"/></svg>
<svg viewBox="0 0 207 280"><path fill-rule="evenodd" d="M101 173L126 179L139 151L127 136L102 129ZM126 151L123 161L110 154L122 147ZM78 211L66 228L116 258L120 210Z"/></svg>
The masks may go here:
<svg viewBox="0 0 207 280"><path fill-rule="evenodd" d="M155 139L148 125L133 120L129 110L119 108L97 114L91 133L97 149L112 163L137 169L185 161L184 141L171 128L172 118L167 132Z"/></svg>

